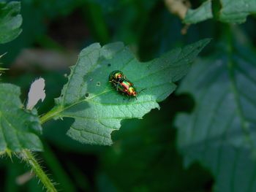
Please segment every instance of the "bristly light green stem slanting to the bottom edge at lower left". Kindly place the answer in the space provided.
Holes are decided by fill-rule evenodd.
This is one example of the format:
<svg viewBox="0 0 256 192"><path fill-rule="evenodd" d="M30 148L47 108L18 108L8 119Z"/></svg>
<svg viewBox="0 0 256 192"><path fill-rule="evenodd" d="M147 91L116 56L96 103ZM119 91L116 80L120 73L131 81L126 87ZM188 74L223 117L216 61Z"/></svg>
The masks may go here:
<svg viewBox="0 0 256 192"><path fill-rule="evenodd" d="M33 172L37 175L37 177L39 177L39 180L41 180L45 188L47 188L47 191L57 192L49 177L45 174L37 160L34 158L34 155L32 155L29 150L23 150L23 152L21 152L21 156L23 160L26 161L29 166L31 166Z"/></svg>

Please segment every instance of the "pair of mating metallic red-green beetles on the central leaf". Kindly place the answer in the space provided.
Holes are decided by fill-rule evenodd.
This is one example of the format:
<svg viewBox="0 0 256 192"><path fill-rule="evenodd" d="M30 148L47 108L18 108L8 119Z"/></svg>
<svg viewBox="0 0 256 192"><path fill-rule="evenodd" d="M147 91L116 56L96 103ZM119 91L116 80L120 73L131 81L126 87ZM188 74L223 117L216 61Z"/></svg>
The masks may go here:
<svg viewBox="0 0 256 192"><path fill-rule="evenodd" d="M135 86L127 79L123 72L118 70L111 72L109 75L109 82L113 84L113 86L116 88L116 91L126 94L129 97L135 97L135 99L137 99L138 92L136 91Z"/></svg>

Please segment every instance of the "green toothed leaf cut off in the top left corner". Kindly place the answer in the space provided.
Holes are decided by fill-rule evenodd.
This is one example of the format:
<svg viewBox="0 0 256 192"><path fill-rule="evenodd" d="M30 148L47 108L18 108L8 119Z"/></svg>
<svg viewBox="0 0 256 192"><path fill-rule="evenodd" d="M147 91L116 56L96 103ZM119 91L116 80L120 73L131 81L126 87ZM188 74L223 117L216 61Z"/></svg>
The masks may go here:
<svg viewBox="0 0 256 192"><path fill-rule="evenodd" d="M0 2L0 44L7 43L18 37L22 17L20 15L20 2Z"/></svg>

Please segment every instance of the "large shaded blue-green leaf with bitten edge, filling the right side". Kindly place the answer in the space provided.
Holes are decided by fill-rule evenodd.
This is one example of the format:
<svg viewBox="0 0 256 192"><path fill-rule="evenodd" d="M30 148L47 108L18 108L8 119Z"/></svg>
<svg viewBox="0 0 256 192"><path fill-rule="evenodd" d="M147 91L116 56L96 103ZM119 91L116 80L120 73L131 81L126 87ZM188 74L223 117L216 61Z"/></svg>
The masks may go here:
<svg viewBox="0 0 256 192"><path fill-rule="evenodd" d="M215 191L255 191L256 58L245 46L203 58L178 89L195 99L192 114L178 115L178 148L215 177Z"/></svg>

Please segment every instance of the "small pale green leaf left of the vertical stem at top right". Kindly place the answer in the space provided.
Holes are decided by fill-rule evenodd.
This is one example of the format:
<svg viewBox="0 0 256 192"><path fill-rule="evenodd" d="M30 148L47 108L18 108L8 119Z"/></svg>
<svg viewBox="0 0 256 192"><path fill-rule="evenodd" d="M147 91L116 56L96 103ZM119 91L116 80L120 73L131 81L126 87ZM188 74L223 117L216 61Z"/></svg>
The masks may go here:
<svg viewBox="0 0 256 192"><path fill-rule="evenodd" d="M199 23L209 18L213 18L211 0L203 2L197 9L188 9L184 23Z"/></svg>

